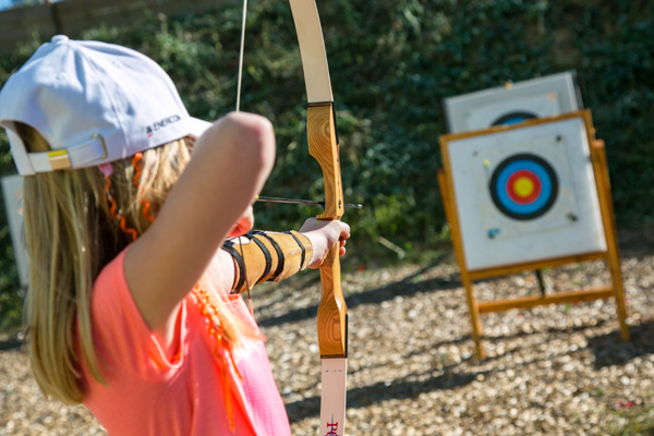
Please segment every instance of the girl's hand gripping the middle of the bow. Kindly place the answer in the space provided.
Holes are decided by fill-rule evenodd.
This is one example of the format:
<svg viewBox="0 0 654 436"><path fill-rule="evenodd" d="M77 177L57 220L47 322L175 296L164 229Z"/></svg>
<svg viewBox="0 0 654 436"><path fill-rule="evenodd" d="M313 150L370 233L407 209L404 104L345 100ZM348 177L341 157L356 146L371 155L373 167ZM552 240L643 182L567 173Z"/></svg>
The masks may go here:
<svg viewBox="0 0 654 436"><path fill-rule="evenodd" d="M336 244L339 244L339 255L346 254L346 240L350 238L350 226L342 221L308 218L300 232L308 238L313 245L313 257L308 268L319 268L329 250Z"/></svg>

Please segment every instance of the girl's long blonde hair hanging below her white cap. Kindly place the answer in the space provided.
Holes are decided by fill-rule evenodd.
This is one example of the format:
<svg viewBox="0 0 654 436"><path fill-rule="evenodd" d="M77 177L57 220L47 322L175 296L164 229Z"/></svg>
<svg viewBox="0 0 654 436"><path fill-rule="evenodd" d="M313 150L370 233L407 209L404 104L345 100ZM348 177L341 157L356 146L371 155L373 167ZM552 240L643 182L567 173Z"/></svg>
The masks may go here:
<svg viewBox="0 0 654 436"><path fill-rule="evenodd" d="M50 147L26 124L16 131L29 152ZM132 158L111 162L111 196L126 226L142 234L150 226L143 214L157 216L170 189L191 158L191 143L175 141L143 153L140 186L134 182ZM98 168L59 170L24 179L25 242L29 256L29 290L25 324L29 361L44 393L64 403L84 398L81 361L99 383L106 383L93 341L90 294L95 279L132 238L120 229L105 194ZM206 275L205 275L206 276ZM210 287L203 277L201 286ZM217 295L213 289L209 292ZM233 314L221 298L213 298L215 319L230 343L256 332Z"/></svg>

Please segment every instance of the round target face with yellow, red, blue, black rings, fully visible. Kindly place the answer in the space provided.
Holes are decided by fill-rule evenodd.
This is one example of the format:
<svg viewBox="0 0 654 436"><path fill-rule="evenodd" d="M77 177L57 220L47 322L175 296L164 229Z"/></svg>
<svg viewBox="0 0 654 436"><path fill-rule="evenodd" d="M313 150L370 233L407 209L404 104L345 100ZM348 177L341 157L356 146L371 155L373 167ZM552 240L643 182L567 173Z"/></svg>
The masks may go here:
<svg viewBox="0 0 654 436"><path fill-rule="evenodd" d="M533 154L502 160L488 186L495 206L506 216L530 220L545 215L556 202L558 180L552 166Z"/></svg>

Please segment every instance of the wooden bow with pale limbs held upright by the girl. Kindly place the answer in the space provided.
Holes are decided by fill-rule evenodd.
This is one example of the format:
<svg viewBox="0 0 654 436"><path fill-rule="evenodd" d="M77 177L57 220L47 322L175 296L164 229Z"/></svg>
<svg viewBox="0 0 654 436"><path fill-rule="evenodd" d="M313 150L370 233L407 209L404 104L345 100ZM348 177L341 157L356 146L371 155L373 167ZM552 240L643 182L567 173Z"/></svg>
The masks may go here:
<svg viewBox="0 0 654 436"><path fill-rule="evenodd" d="M318 161L325 180L325 211L317 218L340 219L344 210L343 189L334 97L320 19L315 0L289 2L306 84L308 152ZM339 244L329 251L320 266L320 281L323 295L317 319L323 368L320 434L342 435L346 420L348 308L340 281Z"/></svg>

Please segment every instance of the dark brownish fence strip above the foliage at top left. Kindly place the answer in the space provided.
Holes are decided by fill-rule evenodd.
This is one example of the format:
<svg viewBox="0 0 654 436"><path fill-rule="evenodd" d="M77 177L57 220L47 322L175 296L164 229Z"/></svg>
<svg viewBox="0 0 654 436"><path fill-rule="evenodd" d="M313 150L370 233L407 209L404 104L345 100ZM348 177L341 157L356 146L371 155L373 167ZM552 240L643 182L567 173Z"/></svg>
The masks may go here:
<svg viewBox="0 0 654 436"><path fill-rule="evenodd" d="M0 12L0 52L37 36L47 41L53 35L74 36L100 24L120 25L146 13L167 15L199 12L231 0L65 0L15 8Z"/></svg>

